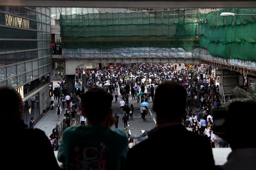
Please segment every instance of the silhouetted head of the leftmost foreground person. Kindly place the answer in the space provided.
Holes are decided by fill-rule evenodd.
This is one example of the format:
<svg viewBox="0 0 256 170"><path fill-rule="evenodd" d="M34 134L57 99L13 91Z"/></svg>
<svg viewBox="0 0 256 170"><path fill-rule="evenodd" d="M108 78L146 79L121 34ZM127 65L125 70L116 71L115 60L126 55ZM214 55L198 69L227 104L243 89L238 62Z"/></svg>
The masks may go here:
<svg viewBox="0 0 256 170"><path fill-rule="evenodd" d="M12 87L0 87L0 94L2 95L0 101L4 104L1 110L3 118L23 120L24 110L20 94Z"/></svg>

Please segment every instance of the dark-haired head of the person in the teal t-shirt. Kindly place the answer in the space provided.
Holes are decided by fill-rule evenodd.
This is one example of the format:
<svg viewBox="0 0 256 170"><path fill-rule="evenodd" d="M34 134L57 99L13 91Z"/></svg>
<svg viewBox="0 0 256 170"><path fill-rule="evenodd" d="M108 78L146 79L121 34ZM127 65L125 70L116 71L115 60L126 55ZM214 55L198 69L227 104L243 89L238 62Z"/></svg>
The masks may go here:
<svg viewBox="0 0 256 170"><path fill-rule="evenodd" d="M104 99L104 102L101 102L99 98ZM87 119L90 121L104 120L110 111L112 112L112 100L113 96L101 88L91 88L84 93L82 97L82 107ZM97 101L100 102L100 107Z"/></svg>

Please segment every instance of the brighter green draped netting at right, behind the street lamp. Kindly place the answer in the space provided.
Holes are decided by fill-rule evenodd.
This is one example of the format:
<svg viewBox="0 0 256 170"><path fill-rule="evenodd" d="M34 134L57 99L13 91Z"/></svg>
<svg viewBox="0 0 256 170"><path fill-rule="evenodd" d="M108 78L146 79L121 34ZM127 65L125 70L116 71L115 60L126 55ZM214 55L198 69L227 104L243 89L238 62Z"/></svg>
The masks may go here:
<svg viewBox="0 0 256 170"><path fill-rule="evenodd" d="M223 9L200 15L199 46L211 55L256 61L256 16L222 17L222 12L256 14L256 9Z"/></svg>

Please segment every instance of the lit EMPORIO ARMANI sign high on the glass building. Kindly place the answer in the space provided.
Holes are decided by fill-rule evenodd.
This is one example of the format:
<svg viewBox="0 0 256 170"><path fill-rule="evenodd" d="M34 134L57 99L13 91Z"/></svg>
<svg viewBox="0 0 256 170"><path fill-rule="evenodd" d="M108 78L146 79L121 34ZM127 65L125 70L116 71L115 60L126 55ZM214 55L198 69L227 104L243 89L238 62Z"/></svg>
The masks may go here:
<svg viewBox="0 0 256 170"><path fill-rule="evenodd" d="M12 15L5 14L5 25L20 28L30 28L29 19L24 19Z"/></svg>

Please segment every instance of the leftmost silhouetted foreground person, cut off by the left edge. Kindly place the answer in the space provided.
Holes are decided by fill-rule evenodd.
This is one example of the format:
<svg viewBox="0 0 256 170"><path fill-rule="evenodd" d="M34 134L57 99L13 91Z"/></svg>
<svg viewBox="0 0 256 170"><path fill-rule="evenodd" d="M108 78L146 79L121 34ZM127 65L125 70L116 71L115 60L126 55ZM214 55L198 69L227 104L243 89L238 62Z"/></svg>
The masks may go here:
<svg viewBox="0 0 256 170"><path fill-rule="evenodd" d="M3 95L1 103L4 103L1 113L4 138L14 133L14 139L4 139L6 147L2 147L3 157L1 161L11 169L60 169L57 164L52 145L45 132L40 129L28 128L23 122L23 102L20 94L11 87L1 87ZM9 101L9 102L6 102ZM11 102L10 102L11 101ZM10 109L11 108L11 109ZM29 122L29 121L28 121Z"/></svg>

